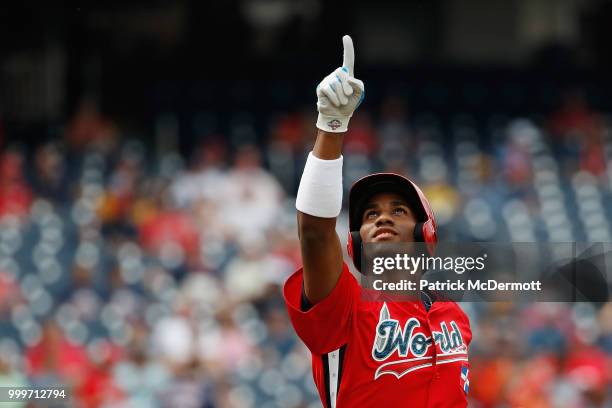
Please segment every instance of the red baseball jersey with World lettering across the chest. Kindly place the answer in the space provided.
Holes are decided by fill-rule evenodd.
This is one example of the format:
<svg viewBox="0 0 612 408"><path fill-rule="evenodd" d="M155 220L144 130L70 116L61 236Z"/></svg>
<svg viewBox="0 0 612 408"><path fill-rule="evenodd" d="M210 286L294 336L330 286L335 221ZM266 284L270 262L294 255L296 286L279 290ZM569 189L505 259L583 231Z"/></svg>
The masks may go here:
<svg viewBox="0 0 612 408"><path fill-rule="evenodd" d="M456 303L370 300L344 264L329 296L302 311L302 281L300 269L283 292L326 408L467 406L472 332Z"/></svg>

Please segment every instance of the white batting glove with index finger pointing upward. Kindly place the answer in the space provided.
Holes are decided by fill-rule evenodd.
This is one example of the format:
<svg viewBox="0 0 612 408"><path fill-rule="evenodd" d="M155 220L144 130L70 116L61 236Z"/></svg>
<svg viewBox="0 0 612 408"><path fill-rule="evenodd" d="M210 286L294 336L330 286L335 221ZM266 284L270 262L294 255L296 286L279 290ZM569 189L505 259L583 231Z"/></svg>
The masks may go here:
<svg viewBox="0 0 612 408"><path fill-rule="evenodd" d="M342 66L323 78L317 86L317 127L326 132L346 132L353 112L363 101L363 82L353 76L355 51L350 36L342 37Z"/></svg>

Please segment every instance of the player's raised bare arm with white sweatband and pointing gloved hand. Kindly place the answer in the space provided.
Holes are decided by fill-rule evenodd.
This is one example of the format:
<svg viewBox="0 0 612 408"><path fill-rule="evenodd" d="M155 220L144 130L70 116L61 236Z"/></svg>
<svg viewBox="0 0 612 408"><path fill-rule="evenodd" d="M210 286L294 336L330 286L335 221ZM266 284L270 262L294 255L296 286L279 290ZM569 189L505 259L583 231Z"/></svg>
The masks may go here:
<svg viewBox="0 0 612 408"><path fill-rule="evenodd" d="M296 200L304 291L310 303L324 299L342 272L342 249L335 228L342 207L342 142L365 92L363 82L353 76L353 41L348 35L342 41L342 67L317 86L319 131Z"/></svg>

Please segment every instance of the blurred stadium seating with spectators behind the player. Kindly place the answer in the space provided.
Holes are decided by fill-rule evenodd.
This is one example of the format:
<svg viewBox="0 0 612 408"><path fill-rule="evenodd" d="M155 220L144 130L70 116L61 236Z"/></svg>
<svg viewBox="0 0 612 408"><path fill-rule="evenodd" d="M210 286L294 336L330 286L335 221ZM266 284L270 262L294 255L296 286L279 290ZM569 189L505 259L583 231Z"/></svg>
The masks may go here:
<svg viewBox="0 0 612 408"><path fill-rule="evenodd" d="M185 153L83 104L61 137L6 146L0 385L65 386L57 406L320 406L281 295L314 119L269 123L261 142L202 135ZM420 183L443 241L611 242L612 122L578 91L531 119L389 97L355 115L344 157L346 188L383 170ZM463 307L470 406L612 406L612 303Z"/></svg>

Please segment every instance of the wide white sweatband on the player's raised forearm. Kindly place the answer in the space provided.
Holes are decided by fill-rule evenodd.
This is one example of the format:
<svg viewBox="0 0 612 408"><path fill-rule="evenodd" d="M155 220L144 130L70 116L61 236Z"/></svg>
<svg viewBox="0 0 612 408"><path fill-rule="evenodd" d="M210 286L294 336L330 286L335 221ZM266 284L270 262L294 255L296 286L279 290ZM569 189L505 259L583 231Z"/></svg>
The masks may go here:
<svg viewBox="0 0 612 408"><path fill-rule="evenodd" d="M342 209L342 156L322 160L308 154L295 208L321 218L335 218Z"/></svg>

